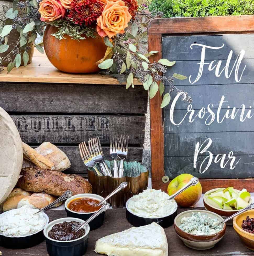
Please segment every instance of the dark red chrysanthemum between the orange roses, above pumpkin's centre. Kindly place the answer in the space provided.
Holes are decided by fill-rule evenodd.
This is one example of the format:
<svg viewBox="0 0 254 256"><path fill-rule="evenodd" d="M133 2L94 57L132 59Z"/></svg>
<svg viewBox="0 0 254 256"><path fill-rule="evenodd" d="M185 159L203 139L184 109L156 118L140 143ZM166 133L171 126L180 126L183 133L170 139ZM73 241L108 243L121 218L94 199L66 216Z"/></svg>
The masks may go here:
<svg viewBox="0 0 254 256"><path fill-rule="evenodd" d="M74 0L68 18L80 26L91 25L101 16L104 7L98 0Z"/></svg>

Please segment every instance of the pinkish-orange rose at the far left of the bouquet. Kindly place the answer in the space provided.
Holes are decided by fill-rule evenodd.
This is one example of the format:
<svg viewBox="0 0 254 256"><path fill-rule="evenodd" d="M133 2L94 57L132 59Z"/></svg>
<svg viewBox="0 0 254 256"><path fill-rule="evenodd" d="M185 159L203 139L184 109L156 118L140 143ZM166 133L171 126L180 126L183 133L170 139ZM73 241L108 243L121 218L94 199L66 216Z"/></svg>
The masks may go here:
<svg viewBox="0 0 254 256"><path fill-rule="evenodd" d="M53 21L64 18L66 10L62 4L56 0L42 0L40 2L39 13L42 21Z"/></svg>

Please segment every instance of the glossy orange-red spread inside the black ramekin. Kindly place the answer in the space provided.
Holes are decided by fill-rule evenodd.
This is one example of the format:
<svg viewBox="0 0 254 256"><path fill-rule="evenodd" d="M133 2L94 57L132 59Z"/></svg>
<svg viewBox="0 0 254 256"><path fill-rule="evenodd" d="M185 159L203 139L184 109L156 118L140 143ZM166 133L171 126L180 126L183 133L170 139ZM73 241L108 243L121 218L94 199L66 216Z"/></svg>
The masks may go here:
<svg viewBox="0 0 254 256"><path fill-rule="evenodd" d="M99 203L100 201L93 198L80 197L71 200L67 207L77 213L92 213L101 209L101 206L97 206Z"/></svg>

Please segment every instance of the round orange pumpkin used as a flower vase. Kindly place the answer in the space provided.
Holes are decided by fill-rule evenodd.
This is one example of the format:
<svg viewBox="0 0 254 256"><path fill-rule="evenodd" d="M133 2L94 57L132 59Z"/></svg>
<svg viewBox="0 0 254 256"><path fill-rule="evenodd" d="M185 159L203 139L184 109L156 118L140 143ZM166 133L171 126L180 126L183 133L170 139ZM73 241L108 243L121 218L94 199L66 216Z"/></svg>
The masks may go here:
<svg viewBox="0 0 254 256"><path fill-rule="evenodd" d="M66 39L58 40L52 36L57 31L56 27L48 25L43 36L44 50L52 65L67 73L96 73L101 70L96 62L104 57L107 49L103 38L87 37L78 41L65 35Z"/></svg>

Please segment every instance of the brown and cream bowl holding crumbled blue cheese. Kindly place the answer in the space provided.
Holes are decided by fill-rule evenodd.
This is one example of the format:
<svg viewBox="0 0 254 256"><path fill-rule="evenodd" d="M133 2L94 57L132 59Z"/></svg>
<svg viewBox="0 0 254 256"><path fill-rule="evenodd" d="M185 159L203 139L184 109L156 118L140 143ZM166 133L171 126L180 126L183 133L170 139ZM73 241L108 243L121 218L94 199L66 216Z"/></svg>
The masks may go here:
<svg viewBox="0 0 254 256"><path fill-rule="evenodd" d="M186 216L191 216L193 212L200 212L201 214L207 214L211 218L217 218L219 221L223 221L223 218L216 213L208 212L206 210L188 210L178 214L174 220L174 228L177 235L180 239L184 242L187 247L196 250L207 250L215 246L223 236L225 235L226 231L226 224L223 225L223 229L216 234L201 236L201 235L193 235L187 233L179 228L181 225L181 219Z"/></svg>

